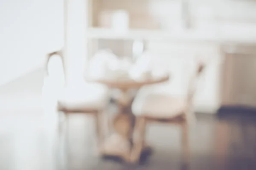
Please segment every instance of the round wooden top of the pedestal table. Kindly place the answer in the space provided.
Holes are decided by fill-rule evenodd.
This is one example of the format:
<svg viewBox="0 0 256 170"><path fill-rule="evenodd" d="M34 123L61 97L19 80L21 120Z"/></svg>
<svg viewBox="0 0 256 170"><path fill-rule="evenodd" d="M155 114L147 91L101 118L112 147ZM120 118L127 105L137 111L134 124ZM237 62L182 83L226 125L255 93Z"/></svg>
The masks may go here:
<svg viewBox="0 0 256 170"><path fill-rule="evenodd" d="M147 79L108 79L108 78L101 78L101 79L89 79L90 82L97 82L100 84L107 85L110 88L121 88L121 89L128 89L128 88L140 88L144 85L152 85L161 82L166 82L169 80L169 74L166 74L161 77L152 77Z"/></svg>

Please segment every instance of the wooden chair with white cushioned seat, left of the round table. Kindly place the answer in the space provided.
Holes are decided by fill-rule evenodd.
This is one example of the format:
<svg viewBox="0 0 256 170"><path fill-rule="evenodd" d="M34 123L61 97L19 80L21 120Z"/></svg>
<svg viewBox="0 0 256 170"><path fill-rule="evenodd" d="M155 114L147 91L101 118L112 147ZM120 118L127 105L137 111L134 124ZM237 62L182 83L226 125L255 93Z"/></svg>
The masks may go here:
<svg viewBox="0 0 256 170"><path fill-rule="evenodd" d="M48 66L51 58L53 57L59 57L61 59L63 72L65 71L62 51L55 51L47 55L45 64L46 77L50 77ZM59 88L62 89L62 87ZM63 86L61 96L57 99L57 110L58 112L64 113L65 117L72 113L85 113L93 115L96 123L98 143L101 144L104 138L102 132L103 127L101 122L101 114L103 113L108 102L109 95L107 87L96 83L87 83L84 81L82 86L75 88L69 88L67 85Z"/></svg>

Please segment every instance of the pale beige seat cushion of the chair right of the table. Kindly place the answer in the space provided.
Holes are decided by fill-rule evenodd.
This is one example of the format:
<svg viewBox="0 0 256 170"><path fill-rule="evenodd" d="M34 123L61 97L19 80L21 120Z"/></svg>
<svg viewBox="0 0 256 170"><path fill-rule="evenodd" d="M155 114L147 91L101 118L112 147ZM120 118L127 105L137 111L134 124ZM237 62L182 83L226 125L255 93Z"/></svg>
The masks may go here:
<svg viewBox="0 0 256 170"><path fill-rule="evenodd" d="M132 111L136 116L146 116L155 119L170 119L183 114L186 101L183 98L166 94L148 94L136 96Z"/></svg>

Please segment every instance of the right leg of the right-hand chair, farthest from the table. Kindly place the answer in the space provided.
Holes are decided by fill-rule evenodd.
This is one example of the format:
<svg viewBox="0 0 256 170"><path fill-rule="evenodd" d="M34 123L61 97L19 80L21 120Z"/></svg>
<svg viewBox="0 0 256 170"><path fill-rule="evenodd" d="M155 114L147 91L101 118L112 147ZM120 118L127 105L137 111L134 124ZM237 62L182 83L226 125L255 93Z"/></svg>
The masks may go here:
<svg viewBox="0 0 256 170"><path fill-rule="evenodd" d="M182 124L182 155L186 165L189 164L189 129L187 122Z"/></svg>

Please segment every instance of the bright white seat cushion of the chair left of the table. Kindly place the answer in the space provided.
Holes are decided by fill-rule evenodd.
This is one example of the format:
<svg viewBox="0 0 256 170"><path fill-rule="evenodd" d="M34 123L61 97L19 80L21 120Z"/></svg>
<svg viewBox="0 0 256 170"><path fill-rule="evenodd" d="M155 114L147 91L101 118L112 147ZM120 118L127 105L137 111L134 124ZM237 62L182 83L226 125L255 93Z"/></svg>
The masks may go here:
<svg viewBox="0 0 256 170"><path fill-rule="evenodd" d="M58 108L67 112L90 112L105 108L109 102L108 88L95 83L65 88L58 99Z"/></svg>

